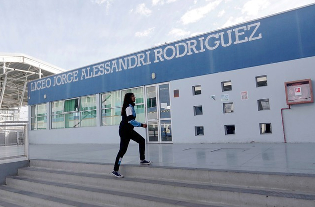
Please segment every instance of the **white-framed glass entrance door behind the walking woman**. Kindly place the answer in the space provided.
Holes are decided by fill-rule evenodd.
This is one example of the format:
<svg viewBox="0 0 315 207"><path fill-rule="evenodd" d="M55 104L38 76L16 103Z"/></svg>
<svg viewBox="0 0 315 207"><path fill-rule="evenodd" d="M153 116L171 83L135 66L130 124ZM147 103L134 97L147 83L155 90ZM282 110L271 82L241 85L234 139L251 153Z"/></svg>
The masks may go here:
<svg viewBox="0 0 315 207"><path fill-rule="evenodd" d="M169 84L149 85L145 91L148 143L172 143Z"/></svg>

